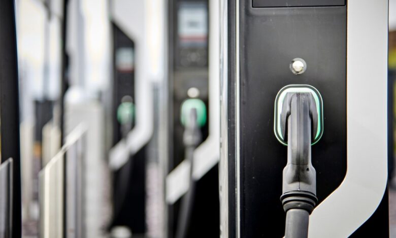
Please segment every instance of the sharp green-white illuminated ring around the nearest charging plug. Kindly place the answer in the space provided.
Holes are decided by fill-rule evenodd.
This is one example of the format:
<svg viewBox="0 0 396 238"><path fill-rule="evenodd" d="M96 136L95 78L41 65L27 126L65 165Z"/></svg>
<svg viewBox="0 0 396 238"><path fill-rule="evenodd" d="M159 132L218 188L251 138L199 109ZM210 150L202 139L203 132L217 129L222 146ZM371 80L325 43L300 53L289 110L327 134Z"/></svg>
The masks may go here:
<svg viewBox="0 0 396 238"><path fill-rule="evenodd" d="M284 145L287 142L284 140L280 126L280 113L282 112L283 99L287 93L311 93L316 103L316 110L318 113L318 129L316 136L312 141L312 145L316 144L323 135L323 100L319 91L311 85L287 85L279 90L275 98L275 113L274 113L274 133L276 138Z"/></svg>

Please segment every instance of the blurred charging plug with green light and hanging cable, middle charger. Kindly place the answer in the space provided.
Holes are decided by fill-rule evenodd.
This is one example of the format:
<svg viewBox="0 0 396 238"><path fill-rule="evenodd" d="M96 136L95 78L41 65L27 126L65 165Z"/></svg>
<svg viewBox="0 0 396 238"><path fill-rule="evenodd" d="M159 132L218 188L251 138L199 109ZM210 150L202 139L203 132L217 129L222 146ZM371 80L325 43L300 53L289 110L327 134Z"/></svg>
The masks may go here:
<svg viewBox="0 0 396 238"><path fill-rule="evenodd" d="M206 120L206 106L202 100L190 98L183 101L180 122L184 126L185 160L190 164L190 186L182 199L176 231L177 238L187 237L195 192L195 181L192 177L194 150L202 141L201 128L205 126Z"/></svg>

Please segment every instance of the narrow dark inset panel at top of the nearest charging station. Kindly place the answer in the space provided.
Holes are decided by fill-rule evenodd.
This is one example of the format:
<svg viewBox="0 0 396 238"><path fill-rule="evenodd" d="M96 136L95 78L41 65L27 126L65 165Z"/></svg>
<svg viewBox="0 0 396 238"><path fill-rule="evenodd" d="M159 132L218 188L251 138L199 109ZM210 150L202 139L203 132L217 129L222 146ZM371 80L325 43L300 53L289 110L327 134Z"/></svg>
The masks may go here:
<svg viewBox="0 0 396 238"><path fill-rule="evenodd" d="M344 6L345 0L253 0L254 8Z"/></svg>

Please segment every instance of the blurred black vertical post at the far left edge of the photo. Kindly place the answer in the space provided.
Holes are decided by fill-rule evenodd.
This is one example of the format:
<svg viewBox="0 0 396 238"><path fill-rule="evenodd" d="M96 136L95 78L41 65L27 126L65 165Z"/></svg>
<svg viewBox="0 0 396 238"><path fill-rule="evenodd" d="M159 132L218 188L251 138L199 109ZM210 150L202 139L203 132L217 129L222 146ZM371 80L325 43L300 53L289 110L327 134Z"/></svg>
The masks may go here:
<svg viewBox="0 0 396 238"><path fill-rule="evenodd" d="M19 150L19 84L15 2L0 2L0 121L2 162L12 157L12 237L21 237L21 173Z"/></svg>

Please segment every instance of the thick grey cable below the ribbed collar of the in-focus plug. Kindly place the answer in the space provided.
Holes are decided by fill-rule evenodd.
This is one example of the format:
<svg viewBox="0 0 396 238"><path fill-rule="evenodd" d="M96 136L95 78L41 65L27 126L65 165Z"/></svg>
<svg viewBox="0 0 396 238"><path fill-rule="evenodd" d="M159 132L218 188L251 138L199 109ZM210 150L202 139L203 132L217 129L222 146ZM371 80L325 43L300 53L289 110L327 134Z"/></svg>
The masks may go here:
<svg viewBox="0 0 396 238"><path fill-rule="evenodd" d="M286 212L285 238L308 237L309 213L304 209L290 209Z"/></svg>

